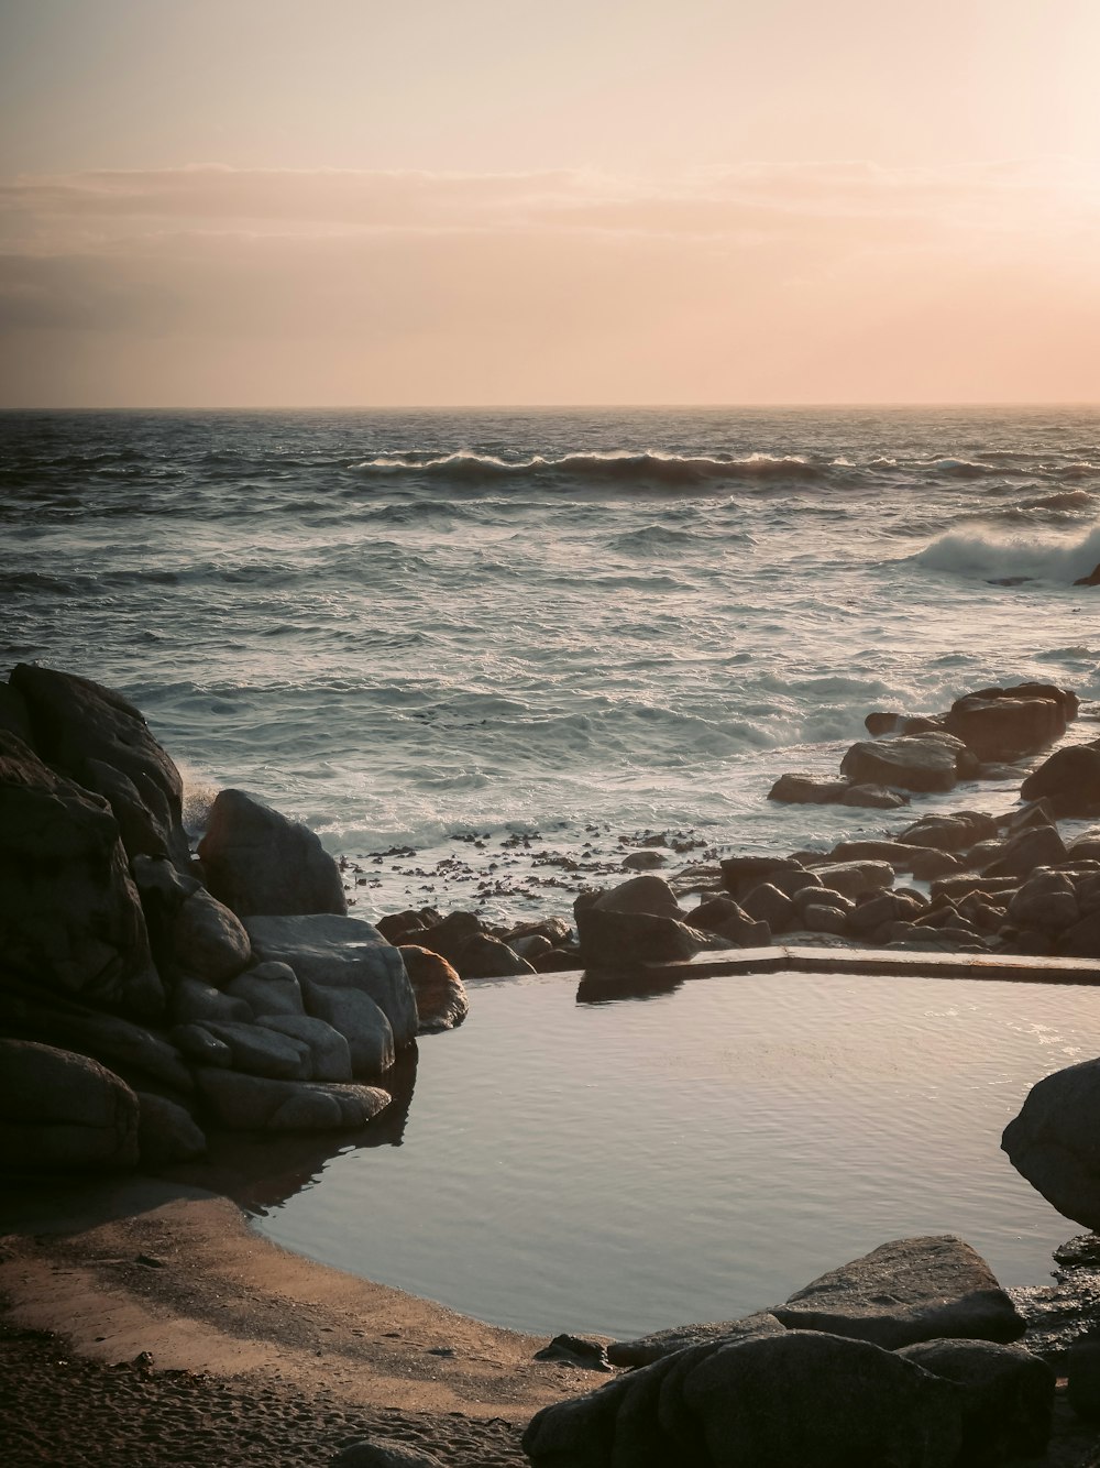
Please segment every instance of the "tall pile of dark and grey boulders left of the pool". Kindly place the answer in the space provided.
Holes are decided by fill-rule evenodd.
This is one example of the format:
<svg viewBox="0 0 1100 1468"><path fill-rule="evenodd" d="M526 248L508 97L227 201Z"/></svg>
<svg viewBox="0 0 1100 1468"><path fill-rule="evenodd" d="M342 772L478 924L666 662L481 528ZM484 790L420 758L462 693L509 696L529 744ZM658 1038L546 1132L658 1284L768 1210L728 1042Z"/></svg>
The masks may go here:
<svg viewBox="0 0 1100 1468"><path fill-rule="evenodd" d="M133 705L22 664L0 684L9 1163L160 1166L211 1126L362 1126L417 1031L400 953L346 915L312 832L221 791L192 857L179 772Z"/></svg>

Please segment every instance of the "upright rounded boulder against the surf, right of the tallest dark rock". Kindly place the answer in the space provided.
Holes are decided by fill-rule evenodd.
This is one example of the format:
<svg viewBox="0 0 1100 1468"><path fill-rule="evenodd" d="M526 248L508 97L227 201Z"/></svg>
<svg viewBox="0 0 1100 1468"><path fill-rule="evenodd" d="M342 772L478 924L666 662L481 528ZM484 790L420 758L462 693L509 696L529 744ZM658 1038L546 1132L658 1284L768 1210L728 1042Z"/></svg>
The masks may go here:
<svg viewBox="0 0 1100 1468"><path fill-rule="evenodd" d="M238 918L348 912L336 862L308 826L221 790L198 844L207 885Z"/></svg>

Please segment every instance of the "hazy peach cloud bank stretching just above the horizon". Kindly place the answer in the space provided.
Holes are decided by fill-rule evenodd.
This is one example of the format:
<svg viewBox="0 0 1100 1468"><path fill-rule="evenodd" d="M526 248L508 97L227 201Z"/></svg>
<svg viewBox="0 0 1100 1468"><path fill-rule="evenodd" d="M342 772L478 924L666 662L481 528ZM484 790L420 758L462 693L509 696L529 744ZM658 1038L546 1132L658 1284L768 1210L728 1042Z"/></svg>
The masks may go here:
<svg viewBox="0 0 1100 1468"><path fill-rule="evenodd" d="M1100 192L1065 164L208 166L0 195L0 329L62 402L106 364L153 402L1100 396ZM15 368L3 390L28 401Z"/></svg>

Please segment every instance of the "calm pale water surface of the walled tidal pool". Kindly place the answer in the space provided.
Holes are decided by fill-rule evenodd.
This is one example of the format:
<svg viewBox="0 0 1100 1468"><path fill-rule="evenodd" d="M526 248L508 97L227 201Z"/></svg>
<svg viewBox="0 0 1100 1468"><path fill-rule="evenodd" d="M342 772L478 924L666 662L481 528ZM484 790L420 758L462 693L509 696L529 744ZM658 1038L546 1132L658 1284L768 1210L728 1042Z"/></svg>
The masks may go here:
<svg viewBox="0 0 1100 1468"><path fill-rule="evenodd" d="M773 1305L903 1235L959 1233L1037 1284L1081 1232L999 1144L1040 1076L1100 1054L1100 988L471 989L462 1029L421 1041L402 1145L333 1157L265 1235L496 1324L626 1337Z"/></svg>

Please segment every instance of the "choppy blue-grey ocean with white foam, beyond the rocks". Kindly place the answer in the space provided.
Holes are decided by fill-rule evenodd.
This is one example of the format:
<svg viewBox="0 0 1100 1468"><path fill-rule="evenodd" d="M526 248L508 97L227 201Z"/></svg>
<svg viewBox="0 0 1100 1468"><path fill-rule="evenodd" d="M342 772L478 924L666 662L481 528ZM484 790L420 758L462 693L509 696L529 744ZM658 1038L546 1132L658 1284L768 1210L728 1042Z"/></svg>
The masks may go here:
<svg viewBox="0 0 1100 1468"><path fill-rule="evenodd" d="M4 665L123 691L197 828L251 790L368 918L896 829L766 799L871 709L1037 678L1096 733L1096 408L6 413L0 452Z"/></svg>

